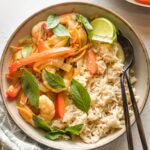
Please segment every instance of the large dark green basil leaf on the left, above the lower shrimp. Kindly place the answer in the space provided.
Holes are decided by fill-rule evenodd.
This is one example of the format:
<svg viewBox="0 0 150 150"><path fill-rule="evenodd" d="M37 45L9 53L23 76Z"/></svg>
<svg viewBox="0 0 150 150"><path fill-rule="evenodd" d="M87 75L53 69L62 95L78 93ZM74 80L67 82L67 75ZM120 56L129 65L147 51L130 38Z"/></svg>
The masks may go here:
<svg viewBox="0 0 150 150"><path fill-rule="evenodd" d="M39 87L38 82L34 75L32 75L26 69L22 69L23 74L21 76L21 85L22 89L25 92L26 96L29 99L31 105L38 107L39 106Z"/></svg>

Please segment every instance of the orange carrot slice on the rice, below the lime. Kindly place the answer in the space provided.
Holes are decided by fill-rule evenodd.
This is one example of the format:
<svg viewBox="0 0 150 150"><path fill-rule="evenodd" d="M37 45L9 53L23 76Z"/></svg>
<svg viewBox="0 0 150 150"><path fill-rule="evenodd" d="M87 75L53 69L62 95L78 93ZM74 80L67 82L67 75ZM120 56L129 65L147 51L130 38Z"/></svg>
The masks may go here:
<svg viewBox="0 0 150 150"><path fill-rule="evenodd" d="M87 70L90 72L91 75L97 73L98 65L96 63L96 54L92 49L88 51L86 66L87 66Z"/></svg>

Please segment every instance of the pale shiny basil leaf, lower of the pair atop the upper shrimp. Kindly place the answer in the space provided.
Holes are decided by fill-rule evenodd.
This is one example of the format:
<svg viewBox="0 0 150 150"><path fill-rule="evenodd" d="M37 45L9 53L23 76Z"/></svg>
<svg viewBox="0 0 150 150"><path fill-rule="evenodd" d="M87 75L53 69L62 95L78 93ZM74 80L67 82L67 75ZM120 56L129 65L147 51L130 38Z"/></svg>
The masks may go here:
<svg viewBox="0 0 150 150"><path fill-rule="evenodd" d="M57 36L67 36L67 37L70 37L70 33L69 33L68 29L65 26L61 25L61 24L59 24L55 28L53 28L53 32Z"/></svg>

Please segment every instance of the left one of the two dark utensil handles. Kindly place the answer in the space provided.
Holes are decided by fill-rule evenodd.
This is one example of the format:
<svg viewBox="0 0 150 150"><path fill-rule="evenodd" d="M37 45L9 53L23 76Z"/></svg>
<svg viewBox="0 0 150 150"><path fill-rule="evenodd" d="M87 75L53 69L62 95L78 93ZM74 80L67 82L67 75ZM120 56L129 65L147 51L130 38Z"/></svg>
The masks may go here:
<svg viewBox="0 0 150 150"><path fill-rule="evenodd" d="M121 84L121 94L122 94L125 125L126 125L126 132L127 132L128 148L129 150L134 150L132 132L131 132L131 127L130 127L130 116L129 116L125 86L124 86L124 73L120 75L120 84Z"/></svg>

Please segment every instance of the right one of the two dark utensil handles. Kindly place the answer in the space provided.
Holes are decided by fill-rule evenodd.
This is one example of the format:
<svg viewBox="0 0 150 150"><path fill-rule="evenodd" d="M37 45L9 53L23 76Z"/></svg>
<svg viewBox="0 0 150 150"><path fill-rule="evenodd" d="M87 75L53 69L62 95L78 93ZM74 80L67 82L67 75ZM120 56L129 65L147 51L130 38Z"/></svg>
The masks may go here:
<svg viewBox="0 0 150 150"><path fill-rule="evenodd" d="M132 102L132 107L133 107L133 110L134 110L134 115L135 115L135 119L136 119L136 122L137 122L137 127L138 127L138 131L139 131L141 143L142 143L142 146L143 146L143 150L148 150L148 146L147 146L147 142L146 142L146 138L145 138L145 134L144 134L144 129L143 129L140 113L139 113L139 110L138 110L138 107L137 107L137 103L136 103L136 100L135 100L135 96L134 96L134 93L133 93L133 89L132 89L132 86L131 86L129 74L125 72L125 76L126 76L126 79L127 79L130 98L131 98L131 102Z"/></svg>

